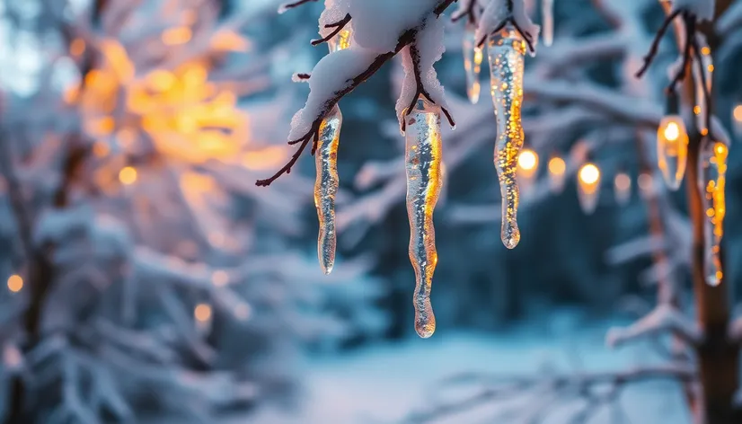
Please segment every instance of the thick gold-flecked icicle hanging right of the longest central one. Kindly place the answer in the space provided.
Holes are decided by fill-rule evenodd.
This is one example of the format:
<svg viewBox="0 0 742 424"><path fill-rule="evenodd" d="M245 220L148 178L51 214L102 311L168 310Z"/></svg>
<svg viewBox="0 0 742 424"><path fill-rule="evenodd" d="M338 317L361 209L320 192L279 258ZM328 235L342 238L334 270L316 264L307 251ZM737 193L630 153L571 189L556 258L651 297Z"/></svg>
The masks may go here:
<svg viewBox="0 0 742 424"><path fill-rule="evenodd" d="M495 167L502 195L502 243L513 249L520 241L517 226L517 208L520 193L517 186L517 156L523 146L521 125L523 104L523 72L526 41L508 24L490 36L490 82L495 117L498 121L498 140L495 148Z"/></svg>

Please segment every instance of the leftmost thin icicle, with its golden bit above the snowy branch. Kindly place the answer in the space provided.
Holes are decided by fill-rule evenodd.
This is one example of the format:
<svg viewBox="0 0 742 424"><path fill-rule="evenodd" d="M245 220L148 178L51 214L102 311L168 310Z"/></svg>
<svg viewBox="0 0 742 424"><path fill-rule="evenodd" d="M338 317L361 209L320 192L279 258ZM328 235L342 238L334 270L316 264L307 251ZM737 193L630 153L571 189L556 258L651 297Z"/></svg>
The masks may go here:
<svg viewBox="0 0 742 424"><path fill-rule="evenodd" d="M343 30L328 41L330 53L350 47L350 31ZM320 222L317 238L317 255L325 274L330 274L335 265L335 249L338 235L335 229L335 196L340 187L338 178L338 144L342 113L335 105L330 114L322 120L320 137L317 139L317 150L314 161L317 177L314 181L314 206Z"/></svg>

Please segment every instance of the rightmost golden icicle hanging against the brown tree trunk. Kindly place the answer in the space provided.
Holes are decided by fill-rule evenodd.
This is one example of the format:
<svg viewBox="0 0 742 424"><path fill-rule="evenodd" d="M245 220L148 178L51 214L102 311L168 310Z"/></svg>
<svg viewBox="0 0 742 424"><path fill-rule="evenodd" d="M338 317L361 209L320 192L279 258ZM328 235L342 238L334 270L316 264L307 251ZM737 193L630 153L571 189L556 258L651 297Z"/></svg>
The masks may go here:
<svg viewBox="0 0 742 424"><path fill-rule="evenodd" d="M720 257L720 243L724 235L724 216L726 216L727 156L729 150L723 143L713 143L704 139L699 157L699 188L702 190L703 208L706 223L705 235L705 271L706 282L718 286L723 278Z"/></svg>

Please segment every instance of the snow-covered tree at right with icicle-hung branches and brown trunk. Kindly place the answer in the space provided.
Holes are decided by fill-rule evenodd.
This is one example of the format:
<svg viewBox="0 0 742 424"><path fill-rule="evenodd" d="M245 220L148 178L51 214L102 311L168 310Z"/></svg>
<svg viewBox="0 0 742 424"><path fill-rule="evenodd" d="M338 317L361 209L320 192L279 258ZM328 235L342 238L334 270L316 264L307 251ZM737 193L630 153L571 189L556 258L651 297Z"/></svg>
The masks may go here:
<svg viewBox="0 0 742 424"><path fill-rule="evenodd" d="M289 3L282 10L310 3L315 2ZM580 200L587 211L595 208L596 190L605 185L601 179L605 179L606 168L601 172L595 164L600 151L614 143L628 142L637 156L632 164L639 167L639 183L650 215L650 234L619 246L611 252L611 257L621 262L640 254L652 254L653 268L648 275L658 284L658 305L636 324L611 331L608 341L618 345L669 332L674 335L674 349L668 355L667 364L661 366L554 378L546 385L557 392L548 397L552 401L539 404L537 412L527 412L536 413L534 419L539 420L552 402L576 397L584 402L570 419L584 421L606 403L614 402L623 387L632 381L671 378L684 385L693 417L698 422L740 420L740 409L735 405L739 340L734 330L737 325L730 319L729 284L725 284L720 244L726 214L724 185L730 143L722 121L730 114L718 114L713 89L714 75L723 72L720 69L727 65L724 59L729 60L733 56L730 52L738 49L733 34L739 25L739 4L732 5L727 0L594 1L610 30L565 31L563 36L557 31L553 47L543 50L543 55L524 66L526 53L535 53L539 38L539 28L529 17L529 11L534 9L532 2L418 0L401 4L393 0L327 0L324 3L319 22L321 38L313 44L331 43L331 54L322 58L311 74L296 75L296 80L308 82L311 90L305 107L291 123L289 144L297 146L296 154L272 177L257 182L261 186L269 185L290 172L305 150L317 156L315 204L321 222L321 261L326 261L322 258L328 257L328 249L334 249L337 229L358 216L372 219L383 216L404 195L406 187L411 221L410 257L418 280L414 296L415 328L420 336L429 337L435 329L435 318L428 296L437 263L432 211L444 174L460 165L474 144L489 140L485 134L494 133L490 122L497 123L495 164L502 193L501 237L508 248L514 248L520 239L518 182L526 185L528 179L518 175L524 137L542 155L564 151L576 134L584 139L583 143L575 144L566 161L561 159L559 170L550 173L560 174L560 178L577 174ZM466 109L464 102L455 96L444 98L444 84L438 81L434 64L442 57L446 44L446 10L455 4L458 10L454 20L464 21L466 26L467 92L470 100L478 100L474 69L482 57L488 56L496 119L491 118L490 108ZM644 22L646 13L651 11L650 7L660 10L658 4L664 7L667 17L659 29L654 25L648 27ZM543 22L549 30L544 40L548 43L553 35L553 6L551 1L543 4ZM556 6L559 8L561 4L557 2ZM658 65L661 61L658 52L660 41L670 27L676 32L678 59L666 72L666 67ZM338 102L394 57L401 57L404 70L396 111L406 139L405 159L382 166L376 164L375 168L361 172L366 181L372 181L368 186L382 185L382 189L340 208L335 216L333 201L338 184L335 155L342 123ZM596 76L590 66L601 59L620 59L621 65L611 69L609 75ZM458 129L446 133L441 121L452 127L456 122ZM441 155L442 138L447 145L446 155ZM655 160L657 172L650 165ZM611 182L619 190L625 190L621 187L626 186L628 177L620 172L617 162L607 169L612 168L616 176ZM402 163L406 166L406 178L399 172L404 169ZM554 175L550 177L553 181ZM669 194L678 189L684 178L691 225L669 201ZM663 179L665 183L661 182ZM545 197L549 185L543 181L529 191L523 200L535 203ZM483 209L492 214L494 208ZM460 209L458 216L470 218L475 210ZM325 241L327 234L333 238L331 243ZM694 321L686 316L687 306L681 304L678 295L678 281L685 269L691 270L693 280ZM539 376L503 380L502 390L499 386L487 386L475 395L473 402L490 402L503 391L541 390L542 383ZM417 420L435 419L438 414L458 409L444 404L434 405L432 410Z"/></svg>

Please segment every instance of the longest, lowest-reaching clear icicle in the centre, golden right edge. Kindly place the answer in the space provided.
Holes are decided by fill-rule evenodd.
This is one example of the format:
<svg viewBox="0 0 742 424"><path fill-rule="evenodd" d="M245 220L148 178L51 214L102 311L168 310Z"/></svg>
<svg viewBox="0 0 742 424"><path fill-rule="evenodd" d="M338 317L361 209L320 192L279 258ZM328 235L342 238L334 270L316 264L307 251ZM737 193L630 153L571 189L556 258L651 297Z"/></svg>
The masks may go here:
<svg viewBox="0 0 742 424"><path fill-rule="evenodd" d="M410 261L415 269L415 331L428 338L436 331L430 288L438 256L433 209L442 185L440 107L420 99L408 115L406 143L407 213Z"/></svg>

